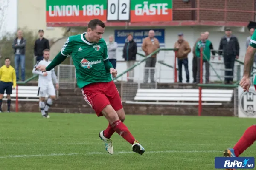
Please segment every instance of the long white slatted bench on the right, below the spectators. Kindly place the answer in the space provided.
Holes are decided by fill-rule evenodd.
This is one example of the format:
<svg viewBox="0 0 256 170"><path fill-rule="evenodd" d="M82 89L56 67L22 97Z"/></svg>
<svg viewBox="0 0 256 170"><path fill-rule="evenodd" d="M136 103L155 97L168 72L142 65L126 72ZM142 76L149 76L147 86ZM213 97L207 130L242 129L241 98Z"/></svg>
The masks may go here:
<svg viewBox="0 0 256 170"><path fill-rule="evenodd" d="M202 89L202 105L222 105L231 102L233 90ZM198 105L198 89L138 89L130 104Z"/></svg>

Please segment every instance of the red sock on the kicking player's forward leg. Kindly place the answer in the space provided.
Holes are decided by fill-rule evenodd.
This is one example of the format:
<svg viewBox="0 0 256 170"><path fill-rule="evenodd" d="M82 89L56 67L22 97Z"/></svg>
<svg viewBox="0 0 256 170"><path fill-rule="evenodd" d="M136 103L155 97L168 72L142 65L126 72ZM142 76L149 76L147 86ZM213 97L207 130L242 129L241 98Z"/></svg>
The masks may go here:
<svg viewBox="0 0 256 170"><path fill-rule="evenodd" d="M122 136L127 142L130 144L134 144L134 137L132 136L131 132L128 130L128 128L121 122L120 120L117 120L113 122L111 125L113 127L113 130L116 131L120 136Z"/></svg>

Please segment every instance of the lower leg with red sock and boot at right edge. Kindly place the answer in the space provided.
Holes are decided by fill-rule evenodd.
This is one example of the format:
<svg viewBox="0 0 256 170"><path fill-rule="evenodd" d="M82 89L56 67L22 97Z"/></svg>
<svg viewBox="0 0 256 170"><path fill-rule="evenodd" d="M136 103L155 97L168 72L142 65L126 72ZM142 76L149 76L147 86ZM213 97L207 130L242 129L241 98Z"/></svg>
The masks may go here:
<svg viewBox="0 0 256 170"><path fill-rule="evenodd" d="M233 148L224 150L224 157L238 157L244 150L250 147L256 141L256 125L252 125L245 130L243 136Z"/></svg>

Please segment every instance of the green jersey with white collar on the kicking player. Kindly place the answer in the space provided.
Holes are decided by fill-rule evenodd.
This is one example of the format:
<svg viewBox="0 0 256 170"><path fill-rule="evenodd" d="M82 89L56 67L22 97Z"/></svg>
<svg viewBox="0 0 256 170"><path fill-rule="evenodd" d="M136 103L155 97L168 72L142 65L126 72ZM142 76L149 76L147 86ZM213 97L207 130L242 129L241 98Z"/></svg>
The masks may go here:
<svg viewBox="0 0 256 170"><path fill-rule="evenodd" d="M104 39L98 43L88 42L85 33L67 38L61 54L71 55L76 68L79 88L94 82L110 82L112 77L106 71L104 61L108 59L108 48Z"/></svg>

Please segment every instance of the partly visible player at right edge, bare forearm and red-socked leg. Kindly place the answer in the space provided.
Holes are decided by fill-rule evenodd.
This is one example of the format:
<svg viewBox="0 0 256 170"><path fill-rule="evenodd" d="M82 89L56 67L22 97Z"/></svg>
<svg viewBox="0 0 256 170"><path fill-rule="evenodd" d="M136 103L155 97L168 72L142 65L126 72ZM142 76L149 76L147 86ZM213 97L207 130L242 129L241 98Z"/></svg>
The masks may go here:
<svg viewBox="0 0 256 170"><path fill-rule="evenodd" d="M251 68L254 62L254 54L256 52L256 31L253 33L253 36L250 40L250 46L247 48L245 57L244 57L244 76L240 81L241 87L244 91L249 91L250 88L250 76ZM254 80L254 88L256 90L256 84ZM243 136L235 144L233 148L228 148L224 150L225 157L238 157L241 155L244 150L250 147L256 141L256 125L252 125L245 130Z"/></svg>

